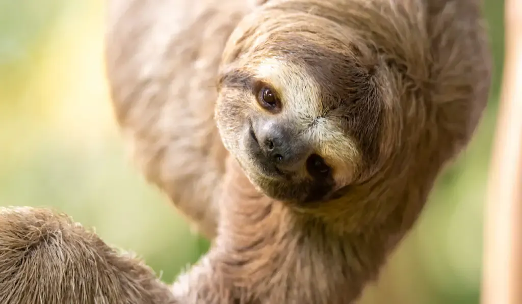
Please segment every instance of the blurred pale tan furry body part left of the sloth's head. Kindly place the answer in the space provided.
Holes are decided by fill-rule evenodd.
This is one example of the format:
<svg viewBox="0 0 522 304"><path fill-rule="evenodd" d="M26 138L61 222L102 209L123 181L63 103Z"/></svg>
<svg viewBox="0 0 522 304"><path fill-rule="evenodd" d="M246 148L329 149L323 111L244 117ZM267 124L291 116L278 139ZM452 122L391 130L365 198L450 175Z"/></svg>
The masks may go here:
<svg viewBox="0 0 522 304"><path fill-rule="evenodd" d="M118 126L146 179L209 238L228 155L213 117L216 76L230 33L254 5L108 2L106 75Z"/></svg>

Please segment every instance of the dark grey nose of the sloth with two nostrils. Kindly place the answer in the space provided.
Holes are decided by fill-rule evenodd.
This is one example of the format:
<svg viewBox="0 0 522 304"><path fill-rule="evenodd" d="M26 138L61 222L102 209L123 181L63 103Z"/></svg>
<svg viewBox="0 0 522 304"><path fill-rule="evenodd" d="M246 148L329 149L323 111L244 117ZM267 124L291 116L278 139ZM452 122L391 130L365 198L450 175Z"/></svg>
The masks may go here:
<svg viewBox="0 0 522 304"><path fill-rule="evenodd" d="M257 134L259 147L281 171L298 171L304 164L309 151L299 140L291 136L288 127L277 123L264 124Z"/></svg>

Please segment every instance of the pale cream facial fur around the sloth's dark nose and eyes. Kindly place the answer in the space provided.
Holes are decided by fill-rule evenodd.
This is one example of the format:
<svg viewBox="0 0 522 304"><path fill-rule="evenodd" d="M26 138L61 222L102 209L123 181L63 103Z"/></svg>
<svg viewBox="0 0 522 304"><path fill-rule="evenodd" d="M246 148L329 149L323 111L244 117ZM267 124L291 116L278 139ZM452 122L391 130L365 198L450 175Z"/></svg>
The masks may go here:
<svg viewBox="0 0 522 304"><path fill-rule="evenodd" d="M294 132L295 140L302 140L310 145L311 152L321 155L333 170L335 184L322 199L327 199L328 194L339 190L353 181L357 173L360 151L357 143L343 130L339 119L329 113L327 104L322 100L319 84L308 75L307 71L299 65L287 62L284 57L267 57L258 65L252 67L252 77L270 84L277 92L281 101L282 110L277 114L270 114L259 106L257 96L250 88L239 86L238 83L228 83L222 88L222 94L218 101L217 121L220 127L221 138L225 147L234 155L245 169L245 173L251 181L263 192L277 199L287 201L303 200L304 197L276 192L274 188L292 188L294 184L306 183L309 180L306 169L303 166L298 172L292 173L292 177L285 181L272 178L263 173L256 160L253 160L248 152L245 140L248 138L248 120L268 119L275 120L277 124L284 124ZM233 92L229 92L229 90ZM233 97L230 97L233 96ZM244 110L237 116L229 117L229 107L236 101L228 98L239 99ZM222 105L222 107L220 107ZM226 113L222 115L221 113ZM220 119L223 116L226 118ZM230 121L232 119L233 121ZM306 188L300 188L302 194L306 194Z"/></svg>

